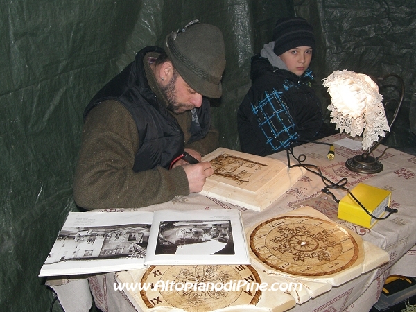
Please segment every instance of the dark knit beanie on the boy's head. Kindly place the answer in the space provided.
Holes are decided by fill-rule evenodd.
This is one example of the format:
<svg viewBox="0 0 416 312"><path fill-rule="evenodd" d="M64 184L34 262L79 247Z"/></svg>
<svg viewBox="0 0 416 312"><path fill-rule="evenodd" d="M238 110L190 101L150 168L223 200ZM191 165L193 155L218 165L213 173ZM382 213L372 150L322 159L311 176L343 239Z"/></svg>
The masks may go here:
<svg viewBox="0 0 416 312"><path fill-rule="evenodd" d="M273 30L275 53L281 55L297 46L311 46L315 50L313 26L302 17L285 17L279 19Z"/></svg>

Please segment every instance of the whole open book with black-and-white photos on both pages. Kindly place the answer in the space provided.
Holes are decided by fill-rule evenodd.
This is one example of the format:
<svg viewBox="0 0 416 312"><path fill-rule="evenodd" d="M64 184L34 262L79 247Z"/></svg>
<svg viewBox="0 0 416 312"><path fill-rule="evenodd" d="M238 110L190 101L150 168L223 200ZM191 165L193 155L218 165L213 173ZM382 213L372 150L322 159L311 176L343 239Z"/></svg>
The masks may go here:
<svg viewBox="0 0 416 312"><path fill-rule="evenodd" d="M70 212L39 276L250 264L238 210Z"/></svg>

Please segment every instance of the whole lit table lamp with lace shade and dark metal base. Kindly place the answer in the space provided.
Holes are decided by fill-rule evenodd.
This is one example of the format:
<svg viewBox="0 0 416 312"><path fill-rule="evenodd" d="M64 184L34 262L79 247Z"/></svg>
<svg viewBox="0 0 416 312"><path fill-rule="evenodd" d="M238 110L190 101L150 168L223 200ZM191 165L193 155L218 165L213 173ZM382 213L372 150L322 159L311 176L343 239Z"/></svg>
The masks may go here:
<svg viewBox="0 0 416 312"><path fill-rule="evenodd" d="M388 124L383 106L383 96L379 94L379 86L369 76L354 71L334 71L324 78L324 86L328 88L331 96L331 123L336 123L336 129L352 137L362 135L364 153L347 159L345 166L358 173L379 173L383 171L383 164L379 157L370 154L380 144L380 137L390 131L403 101L404 83L397 75L390 74L376 78L383 80L395 76L401 83L401 99L398 102L395 114Z"/></svg>

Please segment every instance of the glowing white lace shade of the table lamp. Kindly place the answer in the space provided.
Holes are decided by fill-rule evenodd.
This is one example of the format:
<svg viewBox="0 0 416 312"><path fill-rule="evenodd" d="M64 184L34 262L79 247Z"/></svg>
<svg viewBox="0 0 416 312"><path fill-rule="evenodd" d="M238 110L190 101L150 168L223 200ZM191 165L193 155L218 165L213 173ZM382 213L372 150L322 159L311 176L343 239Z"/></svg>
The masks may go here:
<svg viewBox="0 0 416 312"><path fill-rule="evenodd" d="M363 134L363 150L390 130L379 87L367 75L354 71L334 71L323 80L331 96L331 123L355 137Z"/></svg>

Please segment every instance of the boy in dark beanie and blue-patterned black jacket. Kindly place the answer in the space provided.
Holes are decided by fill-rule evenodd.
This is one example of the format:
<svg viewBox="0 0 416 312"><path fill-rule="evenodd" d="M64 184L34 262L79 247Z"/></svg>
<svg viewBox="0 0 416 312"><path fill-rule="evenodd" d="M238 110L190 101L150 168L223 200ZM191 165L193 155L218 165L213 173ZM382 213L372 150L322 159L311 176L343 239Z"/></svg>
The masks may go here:
<svg viewBox="0 0 416 312"><path fill-rule="evenodd" d="M323 118L308 68L313 27L300 17L277 21L273 41L252 58L252 87L237 112L241 150L266 156L291 142L316 139Z"/></svg>

